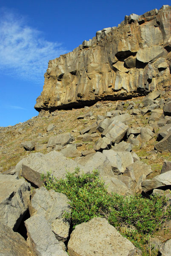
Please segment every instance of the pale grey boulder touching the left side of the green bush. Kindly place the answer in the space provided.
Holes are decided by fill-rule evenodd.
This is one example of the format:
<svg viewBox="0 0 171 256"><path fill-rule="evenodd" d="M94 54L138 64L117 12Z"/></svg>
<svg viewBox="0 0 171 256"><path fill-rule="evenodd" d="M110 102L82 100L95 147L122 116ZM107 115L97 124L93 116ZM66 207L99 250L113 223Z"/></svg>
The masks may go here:
<svg viewBox="0 0 171 256"><path fill-rule="evenodd" d="M38 214L45 217L51 230L60 241L68 238L70 223L63 219L65 212L70 213L69 200L66 195L44 187L36 189L29 207L31 217Z"/></svg>

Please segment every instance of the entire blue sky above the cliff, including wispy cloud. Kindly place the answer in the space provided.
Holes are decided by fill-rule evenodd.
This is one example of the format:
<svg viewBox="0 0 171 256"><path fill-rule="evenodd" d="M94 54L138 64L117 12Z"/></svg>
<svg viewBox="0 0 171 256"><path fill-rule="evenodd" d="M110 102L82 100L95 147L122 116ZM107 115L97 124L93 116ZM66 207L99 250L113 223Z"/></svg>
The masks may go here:
<svg viewBox="0 0 171 256"><path fill-rule="evenodd" d="M117 26L125 15L141 15L170 1L0 0L0 126L38 114L48 61Z"/></svg>

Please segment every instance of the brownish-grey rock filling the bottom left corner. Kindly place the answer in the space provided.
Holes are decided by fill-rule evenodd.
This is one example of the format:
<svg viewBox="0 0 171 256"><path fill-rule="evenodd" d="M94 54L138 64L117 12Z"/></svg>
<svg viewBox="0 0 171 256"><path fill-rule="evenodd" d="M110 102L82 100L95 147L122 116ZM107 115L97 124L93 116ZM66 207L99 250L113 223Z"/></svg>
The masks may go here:
<svg viewBox="0 0 171 256"><path fill-rule="evenodd" d="M0 256L37 256L19 233L0 222Z"/></svg>

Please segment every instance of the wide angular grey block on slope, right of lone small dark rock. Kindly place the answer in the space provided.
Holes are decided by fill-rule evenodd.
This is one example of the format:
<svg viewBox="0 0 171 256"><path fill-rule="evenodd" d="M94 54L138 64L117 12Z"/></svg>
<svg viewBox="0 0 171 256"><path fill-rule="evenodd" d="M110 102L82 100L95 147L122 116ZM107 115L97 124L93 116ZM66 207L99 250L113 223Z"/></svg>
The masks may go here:
<svg viewBox="0 0 171 256"><path fill-rule="evenodd" d="M66 144L70 143L74 140L74 137L69 133L59 134L54 137L50 137L48 140L47 148L51 147L54 148L56 145L65 146Z"/></svg>

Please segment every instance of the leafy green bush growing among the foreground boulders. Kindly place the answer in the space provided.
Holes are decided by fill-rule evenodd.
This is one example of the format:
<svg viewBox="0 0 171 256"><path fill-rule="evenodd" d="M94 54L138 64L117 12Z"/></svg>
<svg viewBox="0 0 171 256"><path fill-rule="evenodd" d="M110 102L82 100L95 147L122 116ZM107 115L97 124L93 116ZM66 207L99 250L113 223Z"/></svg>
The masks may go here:
<svg viewBox="0 0 171 256"><path fill-rule="evenodd" d="M61 192L71 200L71 215L66 213L64 217L71 218L73 229L94 217L106 218L142 251L145 251L149 236L163 221L171 219L171 205L165 197L109 195L97 170L92 174L80 174L76 169L74 173L67 172L66 179L60 180L48 172L42 175L42 180L46 189Z"/></svg>

